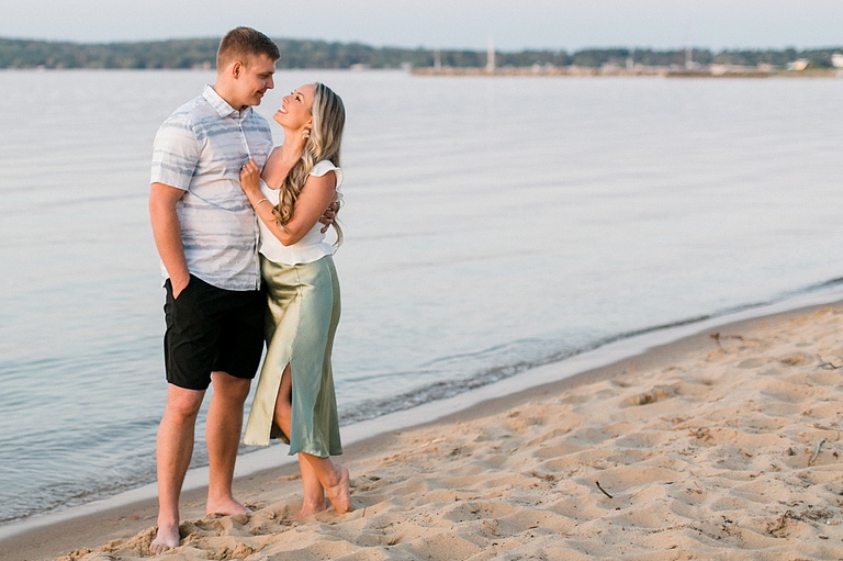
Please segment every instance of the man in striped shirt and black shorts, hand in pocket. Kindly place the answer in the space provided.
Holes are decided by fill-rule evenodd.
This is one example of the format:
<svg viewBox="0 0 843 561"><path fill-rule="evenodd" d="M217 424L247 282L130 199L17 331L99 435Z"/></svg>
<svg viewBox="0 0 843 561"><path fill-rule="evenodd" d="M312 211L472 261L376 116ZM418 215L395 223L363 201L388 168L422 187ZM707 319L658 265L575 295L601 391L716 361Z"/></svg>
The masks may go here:
<svg viewBox="0 0 843 561"><path fill-rule="evenodd" d="M272 89L278 46L249 27L220 43L216 80L168 117L155 139L149 195L167 300L167 405L158 429L158 535L153 554L180 543L179 495L196 416L207 412L206 514L248 509L232 481L244 402L263 349L258 226L239 184L240 167L272 149L267 121L251 108Z"/></svg>

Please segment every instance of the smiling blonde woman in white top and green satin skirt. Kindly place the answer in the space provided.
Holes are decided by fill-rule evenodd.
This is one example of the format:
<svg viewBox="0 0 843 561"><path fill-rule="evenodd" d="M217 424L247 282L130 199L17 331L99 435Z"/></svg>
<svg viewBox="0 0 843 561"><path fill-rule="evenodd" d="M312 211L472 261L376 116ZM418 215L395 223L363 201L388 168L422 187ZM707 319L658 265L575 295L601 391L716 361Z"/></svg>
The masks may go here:
<svg viewBox="0 0 843 561"><path fill-rule="evenodd" d="M249 160L240 184L260 226L261 273L267 287L267 356L244 442L278 437L299 455L304 502L296 518L327 508L351 510L330 352L339 321L339 283L331 255L342 240L325 242L323 211L338 198L339 147L346 121L342 100L322 83L285 96L276 122L284 144L261 172Z"/></svg>

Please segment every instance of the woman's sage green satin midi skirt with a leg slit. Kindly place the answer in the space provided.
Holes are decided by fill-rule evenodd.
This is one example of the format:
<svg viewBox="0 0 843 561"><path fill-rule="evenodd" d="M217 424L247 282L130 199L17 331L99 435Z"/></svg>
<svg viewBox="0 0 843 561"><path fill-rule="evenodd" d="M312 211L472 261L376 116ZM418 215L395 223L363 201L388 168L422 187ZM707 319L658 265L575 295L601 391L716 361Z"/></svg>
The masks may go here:
<svg viewBox="0 0 843 561"><path fill-rule="evenodd" d="M300 265L261 257L267 288L267 355L244 444L266 446L270 438L290 445L290 455L319 458L342 453L330 354L339 323L339 281L330 256ZM272 422L281 374L292 368L292 428L284 435Z"/></svg>

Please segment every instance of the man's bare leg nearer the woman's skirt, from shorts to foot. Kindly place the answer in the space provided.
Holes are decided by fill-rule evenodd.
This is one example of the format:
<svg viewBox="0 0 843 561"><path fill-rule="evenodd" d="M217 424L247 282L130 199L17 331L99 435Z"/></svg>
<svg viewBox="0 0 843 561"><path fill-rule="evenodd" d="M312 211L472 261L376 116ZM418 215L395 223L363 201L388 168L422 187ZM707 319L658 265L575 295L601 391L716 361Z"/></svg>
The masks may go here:
<svg viewBox="0 0 843 561"><path fill-rule="evenodd" d="M211 374L214 393L207 411L209 482L205 514L237 515L250 510L234 498L232 483L243 429L243 405L249 395L250 380L225 372Z"/></svg>

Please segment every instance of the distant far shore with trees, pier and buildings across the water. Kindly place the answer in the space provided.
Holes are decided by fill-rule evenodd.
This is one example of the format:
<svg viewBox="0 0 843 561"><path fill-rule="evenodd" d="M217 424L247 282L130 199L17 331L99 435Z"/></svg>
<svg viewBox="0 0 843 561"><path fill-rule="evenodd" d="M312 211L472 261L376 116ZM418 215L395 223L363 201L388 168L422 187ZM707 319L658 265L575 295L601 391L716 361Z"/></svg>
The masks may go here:
<svg viewBox="0 0 843 561"><path fill-rule="evenodd" d="M416 75L485 76L840 76L843 47L723 51L591 48L485 52L371 47L359 43L276 40L279 69L402 69ZM218 38L80 44L0 38L0 69L214 68Z"/></svg>

